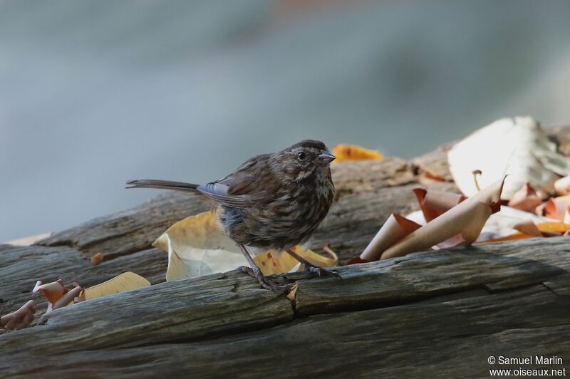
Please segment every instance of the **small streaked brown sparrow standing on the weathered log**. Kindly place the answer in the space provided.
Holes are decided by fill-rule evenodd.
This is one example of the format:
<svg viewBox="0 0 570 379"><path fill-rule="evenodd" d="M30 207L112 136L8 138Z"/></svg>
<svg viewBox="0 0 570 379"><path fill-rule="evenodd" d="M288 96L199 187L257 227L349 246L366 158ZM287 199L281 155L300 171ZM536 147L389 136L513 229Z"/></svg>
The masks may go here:
<svg viewBox="0 0 570 379"><path fill-rule="evenodd" d="M240 269L261 286L281 291L266 279L245 246L286 251L311 272L338 276L291 250L306 242L323 221L334 197L330 163L335 159L321 141L304 140L273 154L252 157L227 177L206 185L165 180L131 180L127 188L198 192L217 203L217 219L249 262Z"/></svg>

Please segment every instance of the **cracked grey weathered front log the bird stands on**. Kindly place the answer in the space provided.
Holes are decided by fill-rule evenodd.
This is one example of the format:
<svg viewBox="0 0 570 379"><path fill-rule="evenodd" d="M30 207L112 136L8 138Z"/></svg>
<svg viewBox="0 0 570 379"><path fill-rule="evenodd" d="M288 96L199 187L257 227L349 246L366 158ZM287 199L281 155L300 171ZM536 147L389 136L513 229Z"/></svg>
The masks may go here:
<svg viewBox="0 0 570 379"><path fill-rule="evenodd" d="M237 271L157 284L58 309L2 336L10 358L0 370L487 376L489 355L570 358L569 249L566 238L531 239L344 266L343 281L289 274L283 279L298 281L294 303Z"/></svg>

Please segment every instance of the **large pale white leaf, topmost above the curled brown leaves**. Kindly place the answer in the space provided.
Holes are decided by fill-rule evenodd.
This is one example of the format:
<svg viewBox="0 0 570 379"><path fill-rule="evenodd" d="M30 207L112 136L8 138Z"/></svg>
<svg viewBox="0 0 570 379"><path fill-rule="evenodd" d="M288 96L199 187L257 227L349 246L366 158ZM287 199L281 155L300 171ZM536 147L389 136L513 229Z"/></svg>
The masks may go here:
<svg viewBox="0 0 570 379"><path fill-rule="evenodd" d="M531 117L497 120L458 142L447 157L455 184L469 197L477 193L474 170L483 172L478 177L481 187L514 175L505 184L502 199L510 199L527 182L552 194L558 175L570 172L566 157Z"/></svg>

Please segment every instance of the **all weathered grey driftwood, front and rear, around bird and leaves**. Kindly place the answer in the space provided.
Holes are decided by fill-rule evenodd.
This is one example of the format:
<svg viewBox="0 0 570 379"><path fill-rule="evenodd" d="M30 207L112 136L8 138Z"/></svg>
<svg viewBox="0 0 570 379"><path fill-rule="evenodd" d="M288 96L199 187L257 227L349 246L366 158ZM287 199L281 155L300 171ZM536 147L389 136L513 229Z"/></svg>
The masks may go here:
<svg viewBox="0 0 570 379"><path fill-rule="evenodd" d="M411 162L336 165L333 179L336 202L311 248L330 243L341 262L359 254L390 213L416 209L413 187L457 191L444 150ZM161 283L167 254L150 244L173 222L206 209L192 195L162 194L34 246L0 246L0 313L30 298L36 279L90 286L135 271L156 284L61 308L0 335L0 373L480 378L508 368L489 365L489 355L558 355L568 367L569 239L343 266L342 281L276 278L297 282L294 301L237 271ZM105 261L92 266L98 252ZM40 316L45 301L33 298Z"/></svg>

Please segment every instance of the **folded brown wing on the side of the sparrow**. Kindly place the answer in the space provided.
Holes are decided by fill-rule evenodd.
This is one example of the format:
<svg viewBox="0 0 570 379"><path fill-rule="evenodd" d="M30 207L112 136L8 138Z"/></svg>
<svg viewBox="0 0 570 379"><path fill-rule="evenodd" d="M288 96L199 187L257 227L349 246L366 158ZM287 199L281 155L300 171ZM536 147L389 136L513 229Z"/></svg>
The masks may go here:
<svg viewBox="0 0 570 379"><path fill-rule="evenodd" d="M269 155L258 155L244 162L238 169L217 182L199 185L197 190L227 207L252 207L271 194Z"/></svg>

